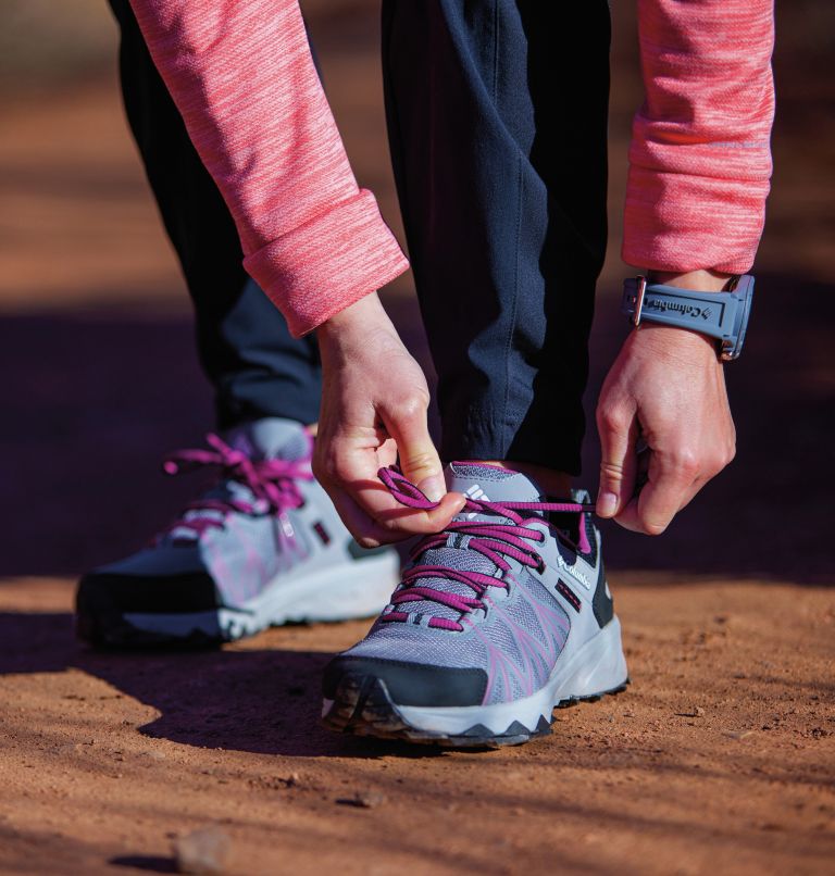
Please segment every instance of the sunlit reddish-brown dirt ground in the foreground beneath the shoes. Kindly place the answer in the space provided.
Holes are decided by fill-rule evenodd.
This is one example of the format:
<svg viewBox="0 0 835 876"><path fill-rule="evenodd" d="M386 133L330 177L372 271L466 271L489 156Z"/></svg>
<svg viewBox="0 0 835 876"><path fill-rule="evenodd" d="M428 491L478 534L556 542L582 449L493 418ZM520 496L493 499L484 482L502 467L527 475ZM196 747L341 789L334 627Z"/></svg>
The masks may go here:
<svg viewBox="0 0 835 876"><path fill-rule="evenodd" d="M167 872L172 838L214 825L246 874L832 872L835 595L639 580L614 578L631 688L484 753L317 728L363 624L99 655L70 583L10 581L0 871Z"/></svg>

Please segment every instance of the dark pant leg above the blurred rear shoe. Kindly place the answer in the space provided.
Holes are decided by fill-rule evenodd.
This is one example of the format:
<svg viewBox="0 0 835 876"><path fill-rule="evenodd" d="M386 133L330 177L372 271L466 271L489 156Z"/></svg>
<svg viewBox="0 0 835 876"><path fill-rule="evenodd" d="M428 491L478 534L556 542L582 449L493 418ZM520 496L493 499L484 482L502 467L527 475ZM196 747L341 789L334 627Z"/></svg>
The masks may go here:
<svg viewBox="0 0 835 876"><path fill-rule="evenodd" d="M165 230L195 304L200 361L215 390L220 428L319 416L315 339L294 339L241 266L234 222L188 138L127 0L111 0L121 30L125 110Z"/></svg>

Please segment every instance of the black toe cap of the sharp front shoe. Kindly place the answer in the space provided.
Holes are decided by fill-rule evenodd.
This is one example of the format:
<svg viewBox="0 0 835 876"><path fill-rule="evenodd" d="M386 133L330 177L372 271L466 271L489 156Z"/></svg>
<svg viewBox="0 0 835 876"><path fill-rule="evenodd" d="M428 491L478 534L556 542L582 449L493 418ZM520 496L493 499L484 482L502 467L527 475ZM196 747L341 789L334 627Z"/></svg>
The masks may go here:
<svg viewBox="0 0 835 876"><path fill-rule="evenodd" d="M484 669L427 666L342 654L334 658L325 668L324 696L329 700L336 699L340 683L348 676L379 678L396 705L481 705L487 689L487 673Z"/></svg>

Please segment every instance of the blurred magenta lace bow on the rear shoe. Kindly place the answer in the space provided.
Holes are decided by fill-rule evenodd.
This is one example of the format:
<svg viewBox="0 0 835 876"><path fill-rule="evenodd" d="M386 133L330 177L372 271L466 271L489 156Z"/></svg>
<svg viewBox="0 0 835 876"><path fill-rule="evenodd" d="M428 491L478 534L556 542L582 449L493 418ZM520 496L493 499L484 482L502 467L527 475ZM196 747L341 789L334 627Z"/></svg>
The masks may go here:
<svg viewBox="0 0 835 876"><path fill-rule="evenodd" d="M242 451L229 447L217 435L209 434L205 440L212 450L178 450L171 453L162 464L165 474L178 475L208 466L217 467L225 479L248 487L256 501L247 502L232 496L225 499L198 499L185 506L179 520L172 523L166 531L190 529L200 536L212 527L222 529L224 516L237 511L251 515L276 514L283 534L291 538L292 526L286 518L286 512L303 504L296 481L313 479L310 456L300 460L252 460ZM220 515L187 517L189 511L217 511Z"/></svg>

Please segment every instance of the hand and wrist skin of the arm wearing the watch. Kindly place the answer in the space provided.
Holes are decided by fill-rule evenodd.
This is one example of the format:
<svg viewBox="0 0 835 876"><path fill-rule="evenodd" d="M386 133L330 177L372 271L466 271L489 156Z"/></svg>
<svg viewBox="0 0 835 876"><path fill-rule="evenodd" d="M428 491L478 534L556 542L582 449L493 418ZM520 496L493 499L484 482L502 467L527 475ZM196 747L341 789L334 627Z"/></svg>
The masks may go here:
<svg viewBox="0 0 835 876"><path fill-rule="evenodd" d="M658 279L705 291L720 291L727 279L697 274ZM638 533L663 533L734 458L736 433L714 342L643 323L609 371L597 426L602 446L597 513Z"/></svg>

